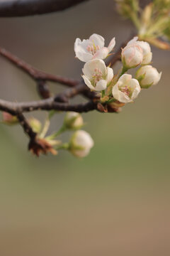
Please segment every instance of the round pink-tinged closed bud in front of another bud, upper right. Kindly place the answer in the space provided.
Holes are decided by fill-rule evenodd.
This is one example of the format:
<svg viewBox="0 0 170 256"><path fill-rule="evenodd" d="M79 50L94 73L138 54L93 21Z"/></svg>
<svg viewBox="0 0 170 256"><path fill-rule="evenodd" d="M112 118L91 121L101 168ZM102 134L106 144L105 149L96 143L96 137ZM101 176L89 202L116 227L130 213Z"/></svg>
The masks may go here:
<svg viewBox="0 0 170 256"><path fill-rule="evenodd" d="M136 68L143 60L142 48L133 44L125 46L122 50L121 59L125 68Z"/></svg>

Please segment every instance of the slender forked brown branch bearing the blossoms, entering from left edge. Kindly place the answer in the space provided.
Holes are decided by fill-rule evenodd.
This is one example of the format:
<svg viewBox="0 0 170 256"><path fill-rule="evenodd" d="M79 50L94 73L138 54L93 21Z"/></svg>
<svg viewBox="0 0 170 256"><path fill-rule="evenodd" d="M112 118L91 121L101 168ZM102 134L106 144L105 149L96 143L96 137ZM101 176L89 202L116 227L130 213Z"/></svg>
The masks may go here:
<svg viewBox="0 0 170 256"><path fill-rule="evenodd" d="M24 132L26 132L28 137L30 137L32 143L35 141L37 134L33 132L33 129L24 117L23 112L32 112L34 110L60 110L74 112L98 110L106 112L104 107L101 106L101 103L98 102L98 95L96 95L95 92L89 91L88 87L86 87L82 80L74 80L72 78L64 78L59 75L45 73L33 68L33 66L1 47L0 55L30 76L30 78L32 78L37 84L38 92L40 97L42 97L42 100L31 102L9 102L0 99L0 110L18 117L18 121L23 127ZM107 60L106 64L113 66L118 60L120 60L120 49ZM54 97L50 97L50 90L47 86L47 82L57 82L69 88ZM89 99L89 101L80 104L69 104L69 98L80 94L84 95L84 97ZM117 110L111 110L111 112L117 112Z"/></svg>

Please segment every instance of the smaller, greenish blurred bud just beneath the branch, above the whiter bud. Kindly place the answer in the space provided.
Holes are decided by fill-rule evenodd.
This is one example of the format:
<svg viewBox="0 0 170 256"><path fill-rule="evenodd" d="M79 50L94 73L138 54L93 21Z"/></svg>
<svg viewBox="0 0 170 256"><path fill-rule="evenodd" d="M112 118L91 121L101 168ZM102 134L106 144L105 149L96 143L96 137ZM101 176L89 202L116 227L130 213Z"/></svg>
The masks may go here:
<svg viewBox="0 0 170 256"><path fill-rule="evenodd" d="M77 112L67 112L64 118L64 125L68 129L79 129L83 126L84 121L81 114Z"/></svg>

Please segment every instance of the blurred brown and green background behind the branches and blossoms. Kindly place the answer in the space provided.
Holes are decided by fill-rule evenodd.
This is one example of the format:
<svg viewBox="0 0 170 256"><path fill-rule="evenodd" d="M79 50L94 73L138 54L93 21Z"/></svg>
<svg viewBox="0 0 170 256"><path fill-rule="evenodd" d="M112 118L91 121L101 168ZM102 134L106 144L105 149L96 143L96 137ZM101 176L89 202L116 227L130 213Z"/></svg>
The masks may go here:
<svg viewBox="0 0 170 256"><path fill-rule="evenodd" d="M75 38L98 33L108 44L115 36L116 50L133 32L113 0L0 22L2 47L40 70L72 78L80 78L83 67L74 58ZM170 255L170 53L152 50L162 71L157 86L142 90L120 114L83 114L95 142L85 159L67 152L38 159L21 127L0 125L0 255ZM38 99L27 75L3 58L0 65L2 99ZM45 118L45 112L31 115ZM63 117L52 119L51 132Z"/></svg>

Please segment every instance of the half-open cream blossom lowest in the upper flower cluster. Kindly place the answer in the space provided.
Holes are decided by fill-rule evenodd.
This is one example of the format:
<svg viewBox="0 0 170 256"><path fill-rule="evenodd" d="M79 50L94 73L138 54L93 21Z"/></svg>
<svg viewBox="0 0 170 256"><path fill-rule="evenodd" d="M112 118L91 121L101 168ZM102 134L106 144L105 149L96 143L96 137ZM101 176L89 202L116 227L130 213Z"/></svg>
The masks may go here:
<svg viewBox="0 0 170 256"><path fill-rule="evenodd" d="M124 74L113 86L112 94L115 100L128 103L135 100L140 90L139 82L132 75Z"/></svg>

